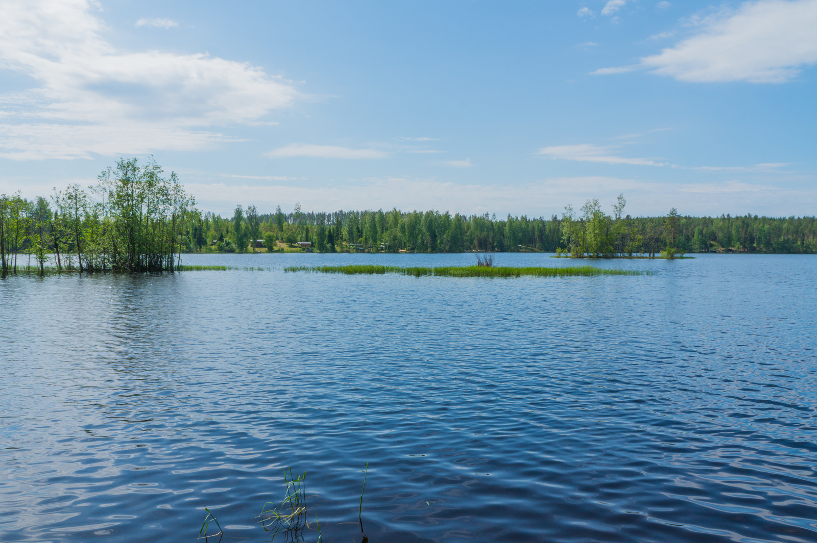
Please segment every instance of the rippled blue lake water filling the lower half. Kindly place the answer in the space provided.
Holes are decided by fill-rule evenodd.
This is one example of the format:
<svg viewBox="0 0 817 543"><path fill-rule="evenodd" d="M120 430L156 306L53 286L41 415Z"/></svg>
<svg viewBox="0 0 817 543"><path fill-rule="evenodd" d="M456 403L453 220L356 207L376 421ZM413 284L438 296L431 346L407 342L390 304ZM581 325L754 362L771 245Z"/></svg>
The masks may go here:
<svg viewBox="0 0 817 543"><path fill-rule="evenodd" d="M814 256L183 260L273 269L0 280L0 541L269 541L283 466L360 541L366 462L372 543L817 541Z"/></svg>

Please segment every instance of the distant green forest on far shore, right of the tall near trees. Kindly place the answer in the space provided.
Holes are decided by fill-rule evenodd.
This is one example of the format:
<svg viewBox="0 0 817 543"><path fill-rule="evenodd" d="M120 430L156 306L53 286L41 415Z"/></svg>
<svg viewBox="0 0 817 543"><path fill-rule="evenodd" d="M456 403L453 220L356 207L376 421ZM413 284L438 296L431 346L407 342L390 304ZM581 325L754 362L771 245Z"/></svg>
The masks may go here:
<svg viewBox="0 0 817 543"><path fill-rule="evenodd" d="M279 206L275 213L258 214L254 205L247 210L239 205L232 218L207 213L189 223L185 249L252 250L251 241L263 239L268 249L307 241L321 252L545 251L574 258L817 252L815 217L689 217L674 209L664 217L632 217L624 214L626 204L618 196L606 214L594 199L550 219L396 209L306 213L300 205L292 213Z"/></svg>

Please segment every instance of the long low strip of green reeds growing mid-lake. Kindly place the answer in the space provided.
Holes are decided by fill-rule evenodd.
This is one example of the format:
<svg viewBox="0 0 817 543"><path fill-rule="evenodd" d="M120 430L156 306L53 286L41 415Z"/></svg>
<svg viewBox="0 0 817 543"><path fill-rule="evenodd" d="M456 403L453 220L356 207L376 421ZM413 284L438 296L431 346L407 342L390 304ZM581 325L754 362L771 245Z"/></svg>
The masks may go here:
<svg viewBox="0 0 817 543"><path fill-rule="evenodd" d="M284 272L383 274L397 273L404 276L444 277L575 277L575 276L652 276L655 272L642 270L605 269L593 266L571 267L398 267L398 266L290 266Z"/></svg>

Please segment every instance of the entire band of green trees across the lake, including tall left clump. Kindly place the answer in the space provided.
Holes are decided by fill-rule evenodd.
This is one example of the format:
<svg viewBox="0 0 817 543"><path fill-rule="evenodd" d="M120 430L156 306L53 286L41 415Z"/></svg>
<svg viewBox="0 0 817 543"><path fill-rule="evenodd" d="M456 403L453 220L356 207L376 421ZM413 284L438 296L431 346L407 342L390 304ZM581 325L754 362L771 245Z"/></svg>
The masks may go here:
<svg viewBox="0 0 817 543"><path fill-rule="evenodd" d="M40 270L172 271L182 253L296 250L455 253L543 251L571 258L675 258L686 253L817 252L815 217L746 214L663 217L624 213L623 195L609 214L596 199L560 217L499 219L448 211L338 210L260 214L237 205L232 217L195 208L176 174L154 161L120 160L84 191L77 184L33 201L0 195L0 264ZM292 248L292 249L288 249Z"/></svg>

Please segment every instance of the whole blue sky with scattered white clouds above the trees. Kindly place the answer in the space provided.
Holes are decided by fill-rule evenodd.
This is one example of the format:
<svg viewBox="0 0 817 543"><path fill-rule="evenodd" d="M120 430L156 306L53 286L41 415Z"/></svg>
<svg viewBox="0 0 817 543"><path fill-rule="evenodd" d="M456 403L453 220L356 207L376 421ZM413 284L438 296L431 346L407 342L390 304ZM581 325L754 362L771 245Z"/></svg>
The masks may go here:
<svg viewBox="0 0 817 543"><path fill-rule="evenodd" d="M817 0L0 0L0 193L817 214Z"/></svg>

